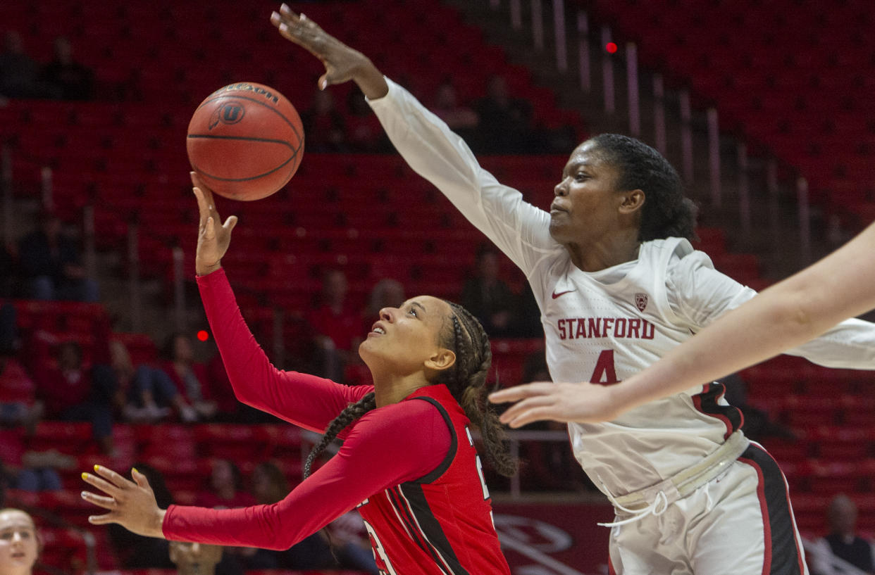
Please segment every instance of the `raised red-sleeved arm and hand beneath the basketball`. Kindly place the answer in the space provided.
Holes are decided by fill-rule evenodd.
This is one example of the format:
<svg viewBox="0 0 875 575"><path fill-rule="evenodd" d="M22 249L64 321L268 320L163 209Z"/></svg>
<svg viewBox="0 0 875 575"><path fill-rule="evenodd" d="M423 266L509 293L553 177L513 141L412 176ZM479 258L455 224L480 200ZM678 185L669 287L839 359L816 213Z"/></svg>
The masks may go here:
<svg viewBox="0 0 875 575"><path fill-rule="evenodd" d="M269 412L298 426L322 432L350 402L370 391L369 386L349 387L294 371L277 370L249 331L221 258L228 251L236 216L221 224L213 194L195 174L200 227L195 271L200 297L207 312L228 379L235 396L247 405Z"/></svg>

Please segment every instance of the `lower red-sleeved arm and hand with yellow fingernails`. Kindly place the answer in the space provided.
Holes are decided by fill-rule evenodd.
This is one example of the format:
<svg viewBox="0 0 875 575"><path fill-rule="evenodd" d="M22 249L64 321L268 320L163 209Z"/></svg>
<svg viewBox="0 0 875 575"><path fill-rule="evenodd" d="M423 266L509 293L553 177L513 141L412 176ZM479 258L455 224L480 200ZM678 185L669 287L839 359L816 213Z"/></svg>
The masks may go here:
<svg viewBox="0 0 875 575"><path fill-rule="evenodd" d="M159 509L143 474L132 471L130 481L104 467L82 474L98 492L81 496L105 510L88 517L95 525L118 523L138 535L177 541L283 550L367 497L428 475L450 448L450 428L440 412L424 401L404 401L368 412L338 454L274 504Z"/></svg>

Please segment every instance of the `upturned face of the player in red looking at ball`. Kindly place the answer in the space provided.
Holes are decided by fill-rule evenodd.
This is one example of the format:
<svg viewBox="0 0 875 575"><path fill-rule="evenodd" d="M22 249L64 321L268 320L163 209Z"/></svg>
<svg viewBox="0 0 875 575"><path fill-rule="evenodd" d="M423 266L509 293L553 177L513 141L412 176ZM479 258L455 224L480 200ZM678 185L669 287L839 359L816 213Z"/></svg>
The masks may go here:
<svg viewBox="0 0 875 575"><path fill-rule="evenodd" d="M359 355L373 370L380 365L398 376L423 369L423 364L441 348L440 334L451 308L446 301L420 295L404 301L399 308L382 308Z"/></svg>

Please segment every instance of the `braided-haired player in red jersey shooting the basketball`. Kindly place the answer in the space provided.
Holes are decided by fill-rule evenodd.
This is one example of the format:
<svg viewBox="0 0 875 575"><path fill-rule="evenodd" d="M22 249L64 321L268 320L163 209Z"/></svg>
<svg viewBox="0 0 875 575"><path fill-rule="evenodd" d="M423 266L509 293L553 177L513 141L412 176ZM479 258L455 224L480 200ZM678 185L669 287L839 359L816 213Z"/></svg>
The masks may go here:
<svg viewBox="0 0 875 575"><path fill-rule="evenodd" d="M82 498L109 512L89 521L179 541L287 549L358 506L381 572L509 574L469 432L478 426L487 458L513 475L515 461L486 402L492 353L479 322L456 304L419 296L383 308L361 343L373 385L277 370L243 322L221 269L237 220L221 225L210 191L193 182L198 285L237 398L297 426L327 428L305 476L335 437L344 443L283 501L242 509L159 509L144 475L135 470L129 481L95 466L83 479L105 495L86 491Z"/></svg>

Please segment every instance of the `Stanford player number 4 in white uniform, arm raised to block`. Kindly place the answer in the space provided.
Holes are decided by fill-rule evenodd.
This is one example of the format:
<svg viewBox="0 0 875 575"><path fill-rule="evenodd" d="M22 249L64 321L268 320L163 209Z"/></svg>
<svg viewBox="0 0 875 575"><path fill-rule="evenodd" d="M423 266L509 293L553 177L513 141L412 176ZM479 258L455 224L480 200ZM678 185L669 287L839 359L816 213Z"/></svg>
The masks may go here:
<svg viewBox="0 0 875 575"><path fill-rule="evenodd" d="M620 135L582 143L542 211L360 52L281 11L272 21L283 36L325 63L319 87L354 80L410 166L526 274L554 381L617 384L755 294L685 239L692 204L654 149ZM872 369L875 326L844 322L794 353ZM569 425L578 461L617 509L612 572L808 572L781 470L739 431L723 392L697 384L610 422Z"/></svg>

